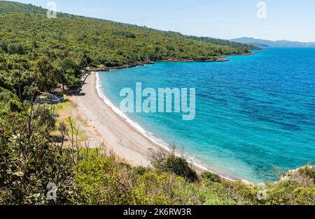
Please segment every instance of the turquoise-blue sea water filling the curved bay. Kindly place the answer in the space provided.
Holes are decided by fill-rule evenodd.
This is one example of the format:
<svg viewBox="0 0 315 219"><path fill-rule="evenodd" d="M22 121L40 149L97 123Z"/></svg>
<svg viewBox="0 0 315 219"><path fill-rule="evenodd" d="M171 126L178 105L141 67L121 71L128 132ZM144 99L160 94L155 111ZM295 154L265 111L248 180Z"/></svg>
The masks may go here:
<svg viewBox="0 0 315 219"><path fill-rule="evenodd" d="M266 48L224 63L162 63L99 73L119 106L120 90L195 87L196 117L127 114L155 137L184 146L203 165L249 181L274 181L315 162L315 49Z"/></svg>

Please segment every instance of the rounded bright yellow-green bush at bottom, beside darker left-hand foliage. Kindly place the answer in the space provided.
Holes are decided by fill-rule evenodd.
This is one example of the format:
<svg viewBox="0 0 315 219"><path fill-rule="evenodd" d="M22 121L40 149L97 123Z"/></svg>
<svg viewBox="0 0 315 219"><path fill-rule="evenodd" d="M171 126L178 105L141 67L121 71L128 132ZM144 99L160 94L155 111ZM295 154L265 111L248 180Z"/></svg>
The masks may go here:
<svg viewBox="0 0 315 219"><path fill-rule="evenodd" d="M77 166L76 185L82 204L130 204L131 188L113 158L90 156Z"/></svg>

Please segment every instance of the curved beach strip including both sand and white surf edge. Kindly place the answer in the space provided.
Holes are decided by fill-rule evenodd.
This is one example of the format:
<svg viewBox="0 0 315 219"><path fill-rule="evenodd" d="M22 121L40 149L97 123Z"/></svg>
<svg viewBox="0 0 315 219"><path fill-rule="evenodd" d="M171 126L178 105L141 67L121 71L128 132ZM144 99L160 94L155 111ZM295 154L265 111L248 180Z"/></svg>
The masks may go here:
<svg viewBox="0 0 315 219"><path fill-rule="evenodd" d="M129 119L114 107L101 91L97 72L91 72L85 78L80 96L74 98L78 114L89 121L97 130L98 137L103 139L107 149L132 166L150 166L148 152L150 150L167 150L167 144L146 132L141 126ZM201 165L197 160L188 156L188 162L197 172L209 171L218 174L211 168ZM243 181L228 174L218 174L228 181Z"/></svg>

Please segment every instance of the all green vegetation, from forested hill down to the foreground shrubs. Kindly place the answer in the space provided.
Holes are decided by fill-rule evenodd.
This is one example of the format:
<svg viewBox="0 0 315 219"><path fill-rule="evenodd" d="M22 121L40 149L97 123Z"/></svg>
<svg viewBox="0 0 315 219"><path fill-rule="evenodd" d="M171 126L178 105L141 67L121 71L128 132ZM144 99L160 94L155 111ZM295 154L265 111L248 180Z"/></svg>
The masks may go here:
<svg viewBox="0 0 315 219"><path fill-rule="evenodd" d="M217 59L251 47L45 13L0 1L0 204L315 204L312 167L267 183L260 200L259 186L197 174L174 153L151 151L153 167L130 167L106 148L80 148L71 121L57 124L54 105L34 103L38 93L79 87L87 66ZM46 197L49 183L56 199Z"/></svg>

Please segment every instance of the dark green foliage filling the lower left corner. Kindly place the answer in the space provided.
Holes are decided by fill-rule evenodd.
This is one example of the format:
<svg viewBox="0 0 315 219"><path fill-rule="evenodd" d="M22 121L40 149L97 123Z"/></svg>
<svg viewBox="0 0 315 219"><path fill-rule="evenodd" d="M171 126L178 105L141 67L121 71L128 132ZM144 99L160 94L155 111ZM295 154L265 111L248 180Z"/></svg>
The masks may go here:
<svg viewBox="0 0 315 219"><path fill-rule="evenodd" d="M1 117L0 204L73 203L71 153L42 135L36 118L24 113ZM58 188L56 202L46 198L48 183Z"/></svg>

